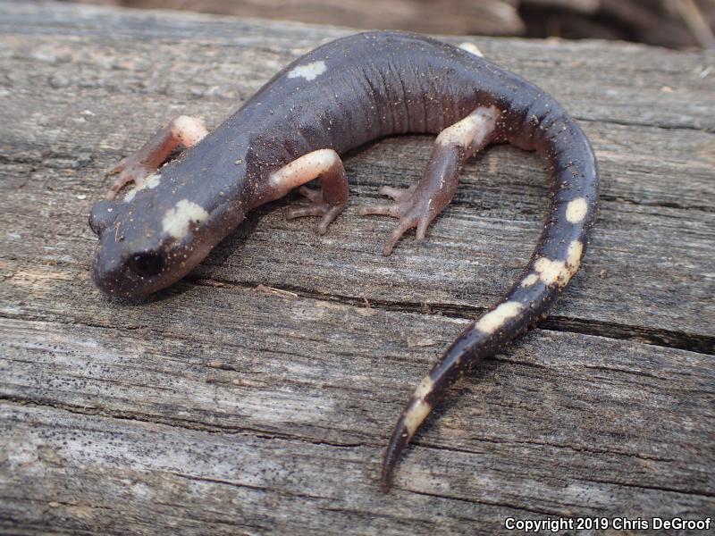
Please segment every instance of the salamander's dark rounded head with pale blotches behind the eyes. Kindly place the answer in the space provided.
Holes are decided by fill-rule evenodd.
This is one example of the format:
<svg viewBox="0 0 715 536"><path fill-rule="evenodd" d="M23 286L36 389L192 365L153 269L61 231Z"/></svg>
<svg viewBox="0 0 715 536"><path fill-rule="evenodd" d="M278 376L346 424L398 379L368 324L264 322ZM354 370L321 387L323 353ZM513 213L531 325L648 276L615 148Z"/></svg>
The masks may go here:
<svg viewBox="0 0 715 536"><path fill-rule="evenodd" d="M240 207L231 207L229 222L225 206L208 206L195 186L162 175L147 178L122 200L92 208L89 226L99 237L92 279L106 294L145 297L168 287L206 257L227 226L242 219Z"/></svg>

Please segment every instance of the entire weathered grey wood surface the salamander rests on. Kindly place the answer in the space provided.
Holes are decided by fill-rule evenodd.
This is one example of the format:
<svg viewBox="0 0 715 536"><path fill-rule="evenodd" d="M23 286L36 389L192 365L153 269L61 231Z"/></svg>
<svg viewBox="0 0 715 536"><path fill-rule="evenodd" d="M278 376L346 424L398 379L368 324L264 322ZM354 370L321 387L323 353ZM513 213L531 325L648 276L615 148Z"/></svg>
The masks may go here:
<svg viewBox="0 0 715 536"><path fill-rule="evenodd" d="M580 120L601 212L564 297L451 389L389 495L403 403L534 247L534 155L476 158L427 241L383 258L394 222L355 205L417 180L432 143L386 139L346 158L352 205L326 236L283 219L290 196L146 303L93 287L102 170L178 113L217 125L347 33L0 2L0 531L495 533L509 516L715 512L712 55L473 39Z"/></svg>

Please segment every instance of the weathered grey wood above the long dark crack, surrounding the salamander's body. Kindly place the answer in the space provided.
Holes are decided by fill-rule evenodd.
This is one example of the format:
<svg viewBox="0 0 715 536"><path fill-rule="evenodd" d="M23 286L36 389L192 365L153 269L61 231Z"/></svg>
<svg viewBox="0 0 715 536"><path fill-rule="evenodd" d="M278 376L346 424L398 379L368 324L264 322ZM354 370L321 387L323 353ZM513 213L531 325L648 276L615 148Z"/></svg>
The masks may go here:
<svg viewBox="0 0 715 536"><path fill-rule="evenodd" d="M85 12L75 9L70 13ZM265 45L257 47L263 32L260 26L206 17L196 18L195 25L181 23L184 19L177 17L173 27L166 18L157 17L148 27L142 23L138 38L127 39L126 32L139 24L136 14L101 12L105 15L100 27L91 17L99 12L90 9L88 13L74 30L88 39L84 48L77 48L73 38L34 35L48 31L34 23L32 17L39 17L37 14L24 15L29 19L23 19L24 23L8 18L18 34L33 34L33 48L7 48L9 71L23 91L10 91L7 96L7 121L17 121L21 128L9 132L5 139L13 149L14 164L6 183L16 187L20 180L33 199L33 185L51 188L52 202L60 195L57 189L66 190L69 197L61 202L65 207L82 192L80 195L88 198L66 214L72 221L82 219L96 198L100 170L129 147L137 147L157 124L184 111L204 113L216 124L273 71L312 46L307 41L309 29L291 26L275 32L279 35L272 35L266 49ZM63 29L70 19L61 12L55 15L55 24ZM107 38L99 33L101 29L114 37ZM327 38L345 33L326 32ZM181 44L181 53L174 42L161 38L169 33L189 39ZM288 48L285 38L299 47ZM325 38L314 38L313 44L318 40ZM599 333L635 335L680 348L710 347L715 306L708 297L715 282L708 266L715 216L708 199L715 197L715 181L711 180L715 136L690 130L702 127L703 121L704 128L713 130L708 121L715 117L715 105L706 97L713 89L713 79L701 77L708 56L664 51L653 56L638 46L587 44L575 52L576 45L541 44L530 45L535 47L530 49L513 40L501 47L492 43L479 41L488 56L542 83L576 116L588 120L585 129L601 163L601 221L585 270L557 314L593 321L589 329L598 326ZM152 54L172 61L156 64ZM540 57L539 62L534 62L534 55ZM582 56L587 56L589 63ZM616 63L614 56L625 58ZM46 63L49 71L40 74L29 68L38 62ZM596 80L609 63L616 67L611 67L610 86L604 91ZM637 69L631 67L634 64ZM673 93L663 93L662 88L673 88ZM202 98L180 104L189 96ZM38 112L21 113L20 99ZM137 109L147 120L128 130L126 111ZM593 112L586 113L586 109ZM618 113L615 121L656 128L608 122L613 113ZM630 114L635 119L629 119ZM606 122L592 122L596 120ZM23 134L26 131L36 138L29 142ZM349 160L356 202L374 202L380 184L416 180L430 143L428 138L393 139ZM108 151L110 147L113 150ZM29 182L30 170L37 168L40 160L43 166L59 166L60 176L66 179L58 183L55 173L50 183L39 170ZM396 162L400 165L395 166ZM674 180L678 188L673 188ZM272 206L261 218L266 226L259 225L257 233L248 238L238 235L228 241L198 274L206 277L214 272L217 278L240 284L291 286L324 294L348 292L349 297L385 303L427 301L436 309L475 314L489 306L526 263L545 210L545 186L535 158L508 149L492 150L467 166L464 182L466 188L459 190L456 203L433 226L428 243L415 247L406 241L391 259L374 253L393 222L363 220L349 212L328 237L320 239L314 236L313 222L285 224L281 212ZM509 208L514 206L517 214ZM55 218L63 218L63 214ZM257 222L258 216L255 218ZM45 225L44 217L37 224ZM43 234L38 233L40 237ZM19 241L27 243L28 239ZM248 255L235 255L237 242L244 240ZM279 252L281 263L262 253L266 242L280 244L273 249ZM32 258L37 245L27 245ZM669 255L663 255L664 248ZM88 249L82 246L80 251L86 252L78 259L84 264ZM264 262L257 263L257 257L265 257ZM425 264L433 258L444 259L443 277L425 273ZM340 279L324 271L326 263L343 267ZM220 266L214 271L215 264ZM270 270L266 269L269 264ZM366 278L366 273L371 277ZM626 297L624 284L632 289ZM572 296L579 298L577 303ZM657 305L655 314L653 304ZM630 327L624 325L624 318L629 319ZM563 320L561 327L563 322L568 321ZM576 324L572 329L587 329L585 322Z"/></svg>

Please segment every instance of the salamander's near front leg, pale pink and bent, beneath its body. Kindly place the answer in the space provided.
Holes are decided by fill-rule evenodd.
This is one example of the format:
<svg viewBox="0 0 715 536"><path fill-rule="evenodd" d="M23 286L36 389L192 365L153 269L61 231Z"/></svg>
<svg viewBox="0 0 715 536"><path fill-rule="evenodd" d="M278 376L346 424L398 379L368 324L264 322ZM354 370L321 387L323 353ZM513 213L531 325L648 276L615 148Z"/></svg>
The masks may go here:
<svg viewBox="0 0 715 536"><path fill-rule="evenodd" d="M321 189L314 190L303 185L310 180L319 179ZM270 178L273 192L270 197L282 197L292 188L300 186L300 193L307 197L311 204L290 208L286 218L302 218L304 216L321 216L318 233L325 234L328 225L337 218L348 205L348 180L342 167L341 157L332 149L319 149L300 156L286 164Z"/></svg>

